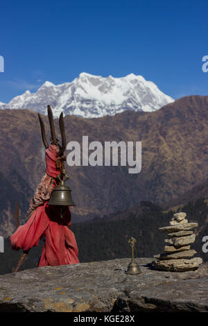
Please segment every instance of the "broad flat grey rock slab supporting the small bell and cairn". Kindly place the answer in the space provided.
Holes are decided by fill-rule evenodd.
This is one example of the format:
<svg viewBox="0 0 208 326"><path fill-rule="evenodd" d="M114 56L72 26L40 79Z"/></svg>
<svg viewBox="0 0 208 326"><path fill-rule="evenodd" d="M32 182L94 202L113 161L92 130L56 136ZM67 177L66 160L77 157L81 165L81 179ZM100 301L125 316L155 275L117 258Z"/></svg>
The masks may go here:
<svg viewBox="0 0 208 326"><path fill-rule="evenodd" d="M196 271L125 273L130 259L45 266L0 276L0 311L208 311L208 264Z"/></svg>

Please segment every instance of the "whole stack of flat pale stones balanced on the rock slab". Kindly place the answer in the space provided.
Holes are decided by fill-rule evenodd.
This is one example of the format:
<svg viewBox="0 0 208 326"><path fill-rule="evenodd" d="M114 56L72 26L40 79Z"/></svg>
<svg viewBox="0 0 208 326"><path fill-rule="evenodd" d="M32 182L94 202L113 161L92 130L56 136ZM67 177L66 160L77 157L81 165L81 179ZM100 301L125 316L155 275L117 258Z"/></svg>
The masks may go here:
<svg viewBox="0 0 208 326"><path fill-rule="evenodd" d="M176 213L171 219L170 225L159 228L167 234L165 240L164 253L155 255L157 259L153 261L153 267L162 271L184 272L193 271L200 264L200 257L193 258L196 250L191 249L191 243L194 243L196 234L191 231L198 227L198 223L189 223L186 213Z"/></svg>

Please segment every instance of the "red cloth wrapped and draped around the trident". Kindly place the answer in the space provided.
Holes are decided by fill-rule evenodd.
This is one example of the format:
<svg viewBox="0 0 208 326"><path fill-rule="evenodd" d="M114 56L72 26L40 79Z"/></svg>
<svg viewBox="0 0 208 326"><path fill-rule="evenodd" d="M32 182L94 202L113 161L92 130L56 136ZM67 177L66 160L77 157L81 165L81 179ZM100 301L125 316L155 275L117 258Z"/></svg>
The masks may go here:
<svg viewBox="0 0 208 326"><path fill-rule="evenodd" d="M46 173L37 187L28 210L29 219L20 225L10 237L12 249L23 251L37 246L45 237L45 244L38 266L77 264L78 247L71 227L69 207L61 218L58 207L47 205L51 192L56 186L55 178L60 174L56 166L58 146L49 145L46 149Z"/></svg>

